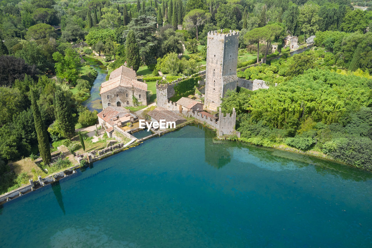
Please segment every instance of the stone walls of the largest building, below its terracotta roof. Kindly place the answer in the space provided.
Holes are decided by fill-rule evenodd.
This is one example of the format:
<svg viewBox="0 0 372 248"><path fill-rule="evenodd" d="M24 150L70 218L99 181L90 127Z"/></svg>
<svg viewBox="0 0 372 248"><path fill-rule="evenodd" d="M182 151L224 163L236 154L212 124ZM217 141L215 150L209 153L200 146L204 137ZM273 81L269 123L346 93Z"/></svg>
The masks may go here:
<svg viewBox="0 0 372 248"><path fill-rule="evenodd" d="M133 93L134 96L138 99L138 102L141 102L142 105L147 105L147 92L145 90L137 89L134 87L118 86L115 89L101 94L102 108L107 108L109 103L111 104L111 106L117 106L118 102L121 103L122 107L134 106ZM128 97L126 96L126 94L128 94ZM129 102L129 104L127 104L127 102Z"/></svg>

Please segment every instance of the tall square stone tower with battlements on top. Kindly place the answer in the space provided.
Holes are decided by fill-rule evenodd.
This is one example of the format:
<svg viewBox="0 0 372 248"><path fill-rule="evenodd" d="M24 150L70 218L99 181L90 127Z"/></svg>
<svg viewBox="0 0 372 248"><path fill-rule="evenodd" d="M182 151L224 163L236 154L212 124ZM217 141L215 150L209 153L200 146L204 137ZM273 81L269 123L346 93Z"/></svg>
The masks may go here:
<svg viewBox="0 0 372 248"><path fill-rule="evenodd" d="M228 34L208 33L204 100L207 109L217 110L226 91L236 90L238 38L239 32L231 30Z"/></svg>

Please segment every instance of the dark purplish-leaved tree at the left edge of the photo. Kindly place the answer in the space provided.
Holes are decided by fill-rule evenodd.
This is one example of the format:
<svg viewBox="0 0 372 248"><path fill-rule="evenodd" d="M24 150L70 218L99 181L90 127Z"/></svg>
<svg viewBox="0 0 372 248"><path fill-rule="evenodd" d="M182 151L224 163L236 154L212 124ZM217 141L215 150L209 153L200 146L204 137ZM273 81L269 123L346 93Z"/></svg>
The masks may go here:
<svg viewBox="0 0 372 248"><path fill-rule="evenodd" d="M0 56L0 86L12 86L16 79L23 80L25 74L36 80L38 73L35 65L26 64L22 58Z"/></svg>

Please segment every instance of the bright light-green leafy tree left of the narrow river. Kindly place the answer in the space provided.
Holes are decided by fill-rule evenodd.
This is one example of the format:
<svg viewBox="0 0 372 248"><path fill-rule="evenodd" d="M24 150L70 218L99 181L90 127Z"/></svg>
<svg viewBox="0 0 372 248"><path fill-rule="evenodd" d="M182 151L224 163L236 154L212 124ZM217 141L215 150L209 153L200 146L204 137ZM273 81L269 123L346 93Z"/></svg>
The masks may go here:
<svg viewBox="0 0 372 248"><path fill-rule="evenodd" d="M67 80L67 82L75 85L76 79L78 79L79 73L77 67L80 65L80 58L76 51L72 48L65 50L65 55L55 52L53 59L57 61L55 63L55 71L57 77Z"/></svg>

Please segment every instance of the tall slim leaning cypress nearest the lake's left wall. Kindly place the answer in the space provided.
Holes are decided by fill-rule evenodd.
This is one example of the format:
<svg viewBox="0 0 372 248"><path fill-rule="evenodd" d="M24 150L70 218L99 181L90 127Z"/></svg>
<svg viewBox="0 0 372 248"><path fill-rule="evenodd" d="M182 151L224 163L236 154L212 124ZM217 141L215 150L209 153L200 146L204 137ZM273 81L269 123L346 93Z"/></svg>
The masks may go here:
<svg viewBox="0 0 372 248"><path fill-rule="evenodd" d="M45 127L45 124L41 119L41 113L39 111L38 104L36 103L35 91L33 89L30 90L30 95L33 121L35 123L36 134L38 136L40 156L44 161L44 165L49 165L52 158L50 155L47 128Z"/></svg>

